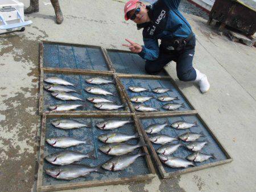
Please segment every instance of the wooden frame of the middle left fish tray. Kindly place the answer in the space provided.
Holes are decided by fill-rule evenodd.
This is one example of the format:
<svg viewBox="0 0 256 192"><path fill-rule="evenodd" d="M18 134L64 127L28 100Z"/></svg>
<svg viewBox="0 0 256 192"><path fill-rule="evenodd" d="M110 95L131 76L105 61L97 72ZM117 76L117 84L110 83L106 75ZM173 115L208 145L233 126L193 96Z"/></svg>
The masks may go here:
<svg viewBox="0 0 256 192"><path fill-rule="evenodd" d="M44 73L60 73L60 74L79 74L79 75L101 75L101 76L112 76L114 81L116 82L115 87L118 91L119 97L122 101L123 104L127 105L126 99L125 99L125 93L120 89L118 84L117 77L110 72L98 72L98 71L88 71L88 70L70 70L70 69L52 69L52 68L46 68L46 69L41 69L40 71L40 99L39 99L39 114L43 113L56 113L56 111L44 111L43 105L44 105ZM60 112L60 111L57 111ZM130 112L129 107L126 106L125 110L91 110L91 111L82 111L82 110L75 110L75 111L63 111L63 112L70 112L70 113L91 113L91 112L98 112L98 113L104 113L104 112L112 112L112 113L119 113L119 112Z"/></svg>

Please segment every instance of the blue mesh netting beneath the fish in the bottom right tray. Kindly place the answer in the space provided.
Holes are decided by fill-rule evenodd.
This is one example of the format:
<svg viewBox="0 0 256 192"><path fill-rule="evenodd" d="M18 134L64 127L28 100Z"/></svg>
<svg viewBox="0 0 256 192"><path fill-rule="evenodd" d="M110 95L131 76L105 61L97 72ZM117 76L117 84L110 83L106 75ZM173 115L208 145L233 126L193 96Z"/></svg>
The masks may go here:
<svg viewBox="0 0 256 192"><path fill-rule="evenodd" d="M154 123L164 123L168 120L168 123L172 124L176 122L177 120L184 120L185 122L189 123L194 123L197 122L198 127L191 127L185 130L176 130L175 128L172 127L165 127L162 131L159 132L159 134L166 134L172 137L177 137L185 132L196 132L196 133L201 133L203 132L203 135L205 137L200 137L198 141L205 141L207 140L209 144L205 145L205 147L201 150L203 153L211 154L213 153L216 159L210 158L207 161L204 162L196 162L196 166L204 165L204 164L209 164L211 162L216 162L216 161L221 161L221 160L226 160L227 157L225 156L224 152L222 152L221 148L218 146L216 141L213 139L213 137L210 135L210 133L207 131L207 129L203 126L203 124L199 121L199 119L196 117L196 115L189 115L189 116L171 116L171 117L166 117L166 118L155 118L155 119L141 119L143 128L146 129L150 124ZM150 134L147 134L150 136ZM178 143L179 141L175 141L174 143ZM186 142L183 142L186 144ZM152 143L154 149L158 149L162 145L160 144L154 144ZM192 152L189 151L185 147L179 147L177 151L175 151L172 156L175 157L181 157L185 158L188 155L190 155ZM167 173L170 172L176 172L177 170L180 170L180 168L170 168L166 164L162 163L164 170L166 170Z"/></svg>

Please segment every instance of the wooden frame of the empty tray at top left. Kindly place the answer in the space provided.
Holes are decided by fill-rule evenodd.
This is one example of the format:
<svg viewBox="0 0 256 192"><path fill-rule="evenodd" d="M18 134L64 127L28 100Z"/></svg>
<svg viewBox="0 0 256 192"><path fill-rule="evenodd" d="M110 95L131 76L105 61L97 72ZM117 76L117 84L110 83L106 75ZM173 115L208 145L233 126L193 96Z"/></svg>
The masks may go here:
<svg viewBox="0 0 256 192"><path fill-rule="evenodd" d="M101 46L96 46L96 45L86 45L86 44L74 44L74 43L65 43L65 42L58 42L58 41L47 41L43 40L40 42L40 57L39 57L39 64L40 64L40 70L41 69L47 69L43 66L43 50L44 50L44 44L59 44L59 45L68 45L68 46L76 46L76 47L88 47L88 48L97 48L100 49L102 56L104 57L104 60L106 62L106 65L108 66L109 70L108 71L100 71L100 72L114 72L112 65L109 64L109 59L108 56L106 55L106 52ZM96 70L86 70L86 69L71 69L71 68L48 68L52 70L56 69L64 69L64 70L71 70L71 71L96 71Z"/></svg>

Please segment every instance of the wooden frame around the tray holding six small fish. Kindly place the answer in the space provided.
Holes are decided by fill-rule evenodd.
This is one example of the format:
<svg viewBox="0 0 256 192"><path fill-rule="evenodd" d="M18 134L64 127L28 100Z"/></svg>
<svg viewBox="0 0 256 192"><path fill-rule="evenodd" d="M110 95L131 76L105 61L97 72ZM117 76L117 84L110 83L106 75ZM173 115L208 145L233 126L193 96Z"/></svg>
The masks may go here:
<svg viewBox="0 0 256 192"><path fill-rule="evenodd" d="M134 112L135 114L140 114L140 115L148 115L148 114L187 114L189 111L193 111L193 112L197 112L195 110L195 107L191 104L191 102L188 101L187 97L185 97L185 95L182 93L182 91L179 89L179 87L177 87L177 85L175 84L174 80L171 77L142 77L142 76L134 76L134 75L130 75L130 74L117 74L117 80L119 82L119 86L121 87L121 89L123 90L123 92L125 93L125 98L126 98L126 102L128 104L128 106L130 107L130 110L132 112ZM191 110L186 110L186 111L153 111L153 112L140 112L140 111L136 111L133 103L131 103L129 96L127 94L127 91L125 89L125 87L122 85L121 82L121 78L142 78L142 79L149 79L149 80L170 80L172 85L174 85L175 89L179 92L179 94L181 94L181 96L184 98L185 102L187 102L188 106L191 108Z"/></svg>

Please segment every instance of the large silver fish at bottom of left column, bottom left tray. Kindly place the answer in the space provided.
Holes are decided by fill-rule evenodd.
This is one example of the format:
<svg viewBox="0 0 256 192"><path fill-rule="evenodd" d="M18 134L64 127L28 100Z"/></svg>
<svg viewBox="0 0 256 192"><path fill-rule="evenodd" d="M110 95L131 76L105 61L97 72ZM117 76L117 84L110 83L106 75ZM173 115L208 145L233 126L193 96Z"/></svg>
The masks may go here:
<svg viewBox="0 0 256 192"><path fill-rule="evenodd" d="M46 174L59 180L73 180L77 177L86 177L92 172L105 173L101 169L101 165L92 168L88 165L72 164L46 169Z"/></svg>

